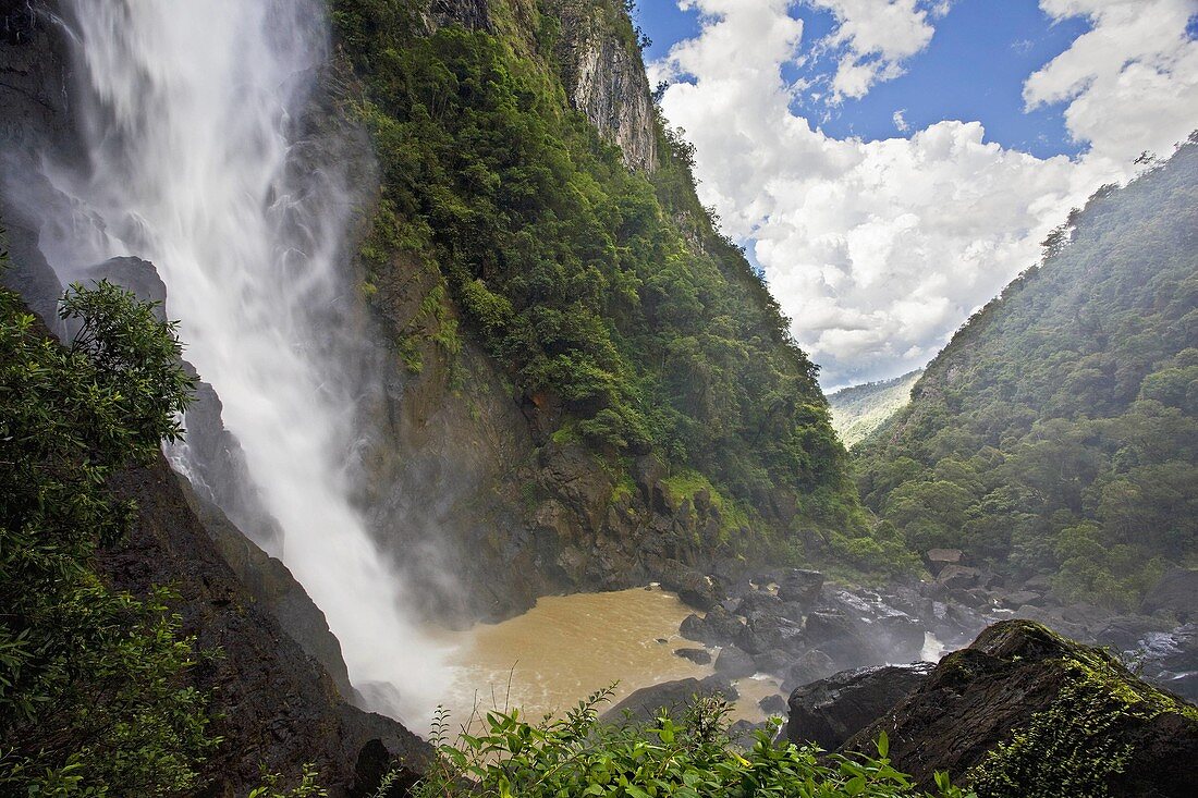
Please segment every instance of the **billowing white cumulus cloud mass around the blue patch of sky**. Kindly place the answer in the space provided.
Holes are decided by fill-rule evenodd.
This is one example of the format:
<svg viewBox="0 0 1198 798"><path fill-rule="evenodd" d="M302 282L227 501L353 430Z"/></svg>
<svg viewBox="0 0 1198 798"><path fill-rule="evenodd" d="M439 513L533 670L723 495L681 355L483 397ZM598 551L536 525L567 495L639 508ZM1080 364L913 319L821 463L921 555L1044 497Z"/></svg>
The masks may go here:
<svg viewBox="0 0 1198 798"><path fill-rule="evenodd" d="M870 143L828 137L794 111L798 86L782 78L783 65L819 47L803 42L792 2L686 2L702 13L702 30L653 65L655 78L676 80L662 108L696 145L702 201L766 268L825 388L926 362L1035 262L1070 207L1129 177L1142 150L1168 155L1198 126L1198 65L1185 35L1196 2L1186 0L1042 0L1054 19L1084 14L1094 29L1029 75L1024 91L1029 107L1063 104L1071 134L1089 145L1076 159L1004 149L970 121ZM1146 12L1125 8L1145 2L1168 24L1149 26L1139 19ZM866 52L878 40L861 30L833 36ZM919 37L900 40L881 52L901 59Z"/></svg>

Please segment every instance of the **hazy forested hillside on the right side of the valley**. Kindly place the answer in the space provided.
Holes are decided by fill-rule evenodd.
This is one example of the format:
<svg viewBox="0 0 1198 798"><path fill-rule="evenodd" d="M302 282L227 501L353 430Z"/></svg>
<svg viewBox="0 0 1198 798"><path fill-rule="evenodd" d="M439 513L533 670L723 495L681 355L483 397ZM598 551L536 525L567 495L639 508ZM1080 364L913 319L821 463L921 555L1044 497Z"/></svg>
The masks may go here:
<svg viewBox="0 0 1198 798"><path fill-rule="evenodd" d="M1198 536L1198 139L1099 191L859 457L918 550L1133 605Z"/></svg>

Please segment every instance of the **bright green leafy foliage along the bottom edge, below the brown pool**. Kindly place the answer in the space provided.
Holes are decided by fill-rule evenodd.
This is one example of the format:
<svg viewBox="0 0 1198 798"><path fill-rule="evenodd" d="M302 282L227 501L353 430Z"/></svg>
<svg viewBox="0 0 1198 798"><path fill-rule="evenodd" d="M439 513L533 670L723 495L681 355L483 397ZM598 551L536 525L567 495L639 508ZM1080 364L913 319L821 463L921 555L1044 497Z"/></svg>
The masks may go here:
<svg viewBox="0 0 1198 798"><path fill-rule="evenodd" d="M720 699L696 699L677 721L662 712L648 725L613 726L600 723L595 708L609 695L595 693L564 719L539 724L525 721L518 711L488 713L483 733L464 731L455 744L446 740L442 717L438 758L417 786L417 798L928 797L890 767L885 736L877 760L817 758L817 749L774 744L764 732L750 750L739 751ZM934 794L964 798L943 775L937 775Z"/></svg>

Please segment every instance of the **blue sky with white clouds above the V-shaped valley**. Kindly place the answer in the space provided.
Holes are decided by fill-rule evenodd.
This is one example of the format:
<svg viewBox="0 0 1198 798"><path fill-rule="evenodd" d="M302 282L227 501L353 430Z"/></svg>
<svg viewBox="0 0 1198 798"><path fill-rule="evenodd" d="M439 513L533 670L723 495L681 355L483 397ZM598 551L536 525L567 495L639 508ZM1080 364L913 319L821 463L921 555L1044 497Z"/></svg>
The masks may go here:
<svg viewBox="0 0 1198 798"><path fill-rule="evenodd" d="M1198 0L639 0L668 123L821 383L922 365L1198 128Z"/></svg>

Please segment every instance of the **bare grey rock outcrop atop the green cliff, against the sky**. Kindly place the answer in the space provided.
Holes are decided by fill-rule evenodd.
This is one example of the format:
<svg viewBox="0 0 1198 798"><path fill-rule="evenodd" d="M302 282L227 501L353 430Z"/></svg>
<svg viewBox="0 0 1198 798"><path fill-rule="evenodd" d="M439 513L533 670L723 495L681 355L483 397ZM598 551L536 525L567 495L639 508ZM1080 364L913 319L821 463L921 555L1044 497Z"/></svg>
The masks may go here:
<svg viewBox="0 0 1198 798"><path fill-rule="evenodd" d="M629 169L652 173L658 162L653 97L622 4L553 0L550 7L561 18L557 58L571 104L619 146Z"/></svg>

